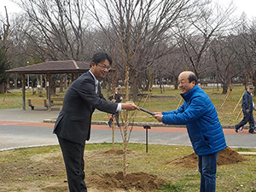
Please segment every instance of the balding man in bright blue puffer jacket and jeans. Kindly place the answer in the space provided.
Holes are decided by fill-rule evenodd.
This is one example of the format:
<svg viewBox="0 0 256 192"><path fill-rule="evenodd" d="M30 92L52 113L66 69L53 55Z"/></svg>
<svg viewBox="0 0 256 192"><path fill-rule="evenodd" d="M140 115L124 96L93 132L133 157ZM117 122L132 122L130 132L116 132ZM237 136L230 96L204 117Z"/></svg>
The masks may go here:
<svg viewBox="0 0 256 192"><path fill-rule="evenodd" d="M197 85L195 73L185 71L178 76L183 105L175 111L155 113L154 118L168 125L187 125L201 172L201 192L216 189L218 152L226 148L218 113L206 92Z"/></svg>

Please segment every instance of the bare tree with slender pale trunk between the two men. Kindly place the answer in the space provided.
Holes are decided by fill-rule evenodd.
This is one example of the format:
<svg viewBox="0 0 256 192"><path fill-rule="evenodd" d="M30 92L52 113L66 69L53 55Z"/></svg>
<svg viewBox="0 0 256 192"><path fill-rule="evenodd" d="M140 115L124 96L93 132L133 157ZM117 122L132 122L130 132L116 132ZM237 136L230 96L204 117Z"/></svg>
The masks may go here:
<svg viewBox="0 0 256 192"><path fill-rule="evenodd" d="M98 0L90 1L91 15L105 32L113 60L121 69L125 84L125 100L129 101L129 85L137 96L137 82L141 72L147 70L160 56L158 48L170 42L171 28L184 19L184 10L190 0ZM161 53L164 54L164 53ZM124 175L126 175L126 145L128 112L124 128Z"/></svg>

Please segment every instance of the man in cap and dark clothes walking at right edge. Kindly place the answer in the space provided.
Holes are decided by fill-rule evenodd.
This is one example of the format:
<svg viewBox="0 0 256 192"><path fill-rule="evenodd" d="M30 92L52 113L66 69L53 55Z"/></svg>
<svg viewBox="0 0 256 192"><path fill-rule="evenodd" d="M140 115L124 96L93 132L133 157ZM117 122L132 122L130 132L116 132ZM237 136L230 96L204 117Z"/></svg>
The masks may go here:
<svg viewBox="0 0 256 192"><path fill-rule="evenodd" d="M235 131L237 132L240 127L243 125L246 125L247 122L250 125L249 133L255 134L255 125L254 125L254 117L253 117L253 110L254 104L253 104L253 85L248 85L247 91L242 96L242 102L241 102L241 108L243 113L243 119L241 119L241 122L237 125L235 125Z"/></svg>

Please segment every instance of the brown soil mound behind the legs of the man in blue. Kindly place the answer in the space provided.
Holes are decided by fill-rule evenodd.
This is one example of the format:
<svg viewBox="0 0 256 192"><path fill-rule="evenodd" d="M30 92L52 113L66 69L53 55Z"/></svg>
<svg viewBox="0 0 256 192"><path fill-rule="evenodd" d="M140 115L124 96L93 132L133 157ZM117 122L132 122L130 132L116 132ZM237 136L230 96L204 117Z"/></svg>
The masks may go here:
<svg viewBox="0 0 256 192"><path fill-rule="evenodd" d="M238 154L234 149L227 147L218 153L217 165L230 165L247 160L241 154ZM172 167L196 168L198 166L198 157L195 153L184 156L181 159L172 160L167 163Z"/></svg>

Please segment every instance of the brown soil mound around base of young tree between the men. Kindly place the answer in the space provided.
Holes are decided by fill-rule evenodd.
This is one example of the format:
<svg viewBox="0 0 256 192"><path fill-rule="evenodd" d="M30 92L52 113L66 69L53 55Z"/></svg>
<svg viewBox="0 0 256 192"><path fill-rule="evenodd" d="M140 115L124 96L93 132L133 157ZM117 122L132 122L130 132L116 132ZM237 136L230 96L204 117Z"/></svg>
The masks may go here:
<svg viewBox="0 0 256 192"><path fill-rule="evenodd" d="M152 191L154 189L160 189L162 184L165 183L163 179L148 174L146 172L135 172L123 176L123 172L117 173L105 173L102 175L93 175L86 178L86 184L88 187L101 189L101 191L116 191L116 189L131 190L136 189L138 191Z"/></svg>

